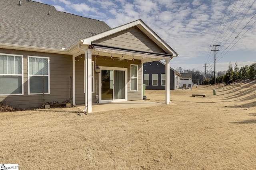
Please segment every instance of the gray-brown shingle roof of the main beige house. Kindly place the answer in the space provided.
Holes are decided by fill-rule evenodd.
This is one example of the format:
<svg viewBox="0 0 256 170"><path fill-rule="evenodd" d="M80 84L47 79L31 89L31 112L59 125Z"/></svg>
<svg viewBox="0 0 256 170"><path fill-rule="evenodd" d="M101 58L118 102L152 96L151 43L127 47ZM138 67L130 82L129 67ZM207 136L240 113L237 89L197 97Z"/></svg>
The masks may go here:
<svg viewBox="0 0 256 170"><path fill-rule="evenodd" d="M0 42L61 49L111 29L99 20L27 0L0 0ZM48 12L50 11L50 15Z"/></svg>

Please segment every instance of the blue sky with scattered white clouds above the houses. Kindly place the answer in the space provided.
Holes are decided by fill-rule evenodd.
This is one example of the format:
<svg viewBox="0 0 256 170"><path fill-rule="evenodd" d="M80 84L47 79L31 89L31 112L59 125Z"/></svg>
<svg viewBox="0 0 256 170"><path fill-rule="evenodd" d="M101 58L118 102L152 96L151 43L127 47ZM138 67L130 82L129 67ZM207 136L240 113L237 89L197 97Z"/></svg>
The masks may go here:
<svg viewBox="0 0 256 170"><path fill-rule="evenodd" d="M141 19L179 56L176 69L228 70L256 62L256 0L34 0L118 27ZM205 64L204 64L205 63Z"/></svg>

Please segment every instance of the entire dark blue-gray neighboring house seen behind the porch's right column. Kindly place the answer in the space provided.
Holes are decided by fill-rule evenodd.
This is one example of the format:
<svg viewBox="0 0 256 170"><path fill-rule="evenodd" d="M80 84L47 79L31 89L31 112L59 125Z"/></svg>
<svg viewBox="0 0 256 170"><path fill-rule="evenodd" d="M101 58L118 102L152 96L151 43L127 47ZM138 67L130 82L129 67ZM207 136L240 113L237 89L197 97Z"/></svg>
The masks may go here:
<svg viewBox="0 0 256 170"><path fill-rule="evenodd" d="M165 64L162 61L152 61L143 65L143 83L146 89L165 89ZM170 67L170 90L176 90L180 84L180 73Z"/></svg>

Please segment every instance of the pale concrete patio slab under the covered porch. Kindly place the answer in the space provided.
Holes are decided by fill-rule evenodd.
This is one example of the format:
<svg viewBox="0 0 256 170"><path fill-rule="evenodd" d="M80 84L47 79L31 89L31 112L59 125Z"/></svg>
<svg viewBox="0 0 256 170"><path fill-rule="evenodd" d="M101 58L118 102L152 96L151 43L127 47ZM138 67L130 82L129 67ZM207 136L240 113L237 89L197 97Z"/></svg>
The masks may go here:
<svg viewBox="0 0 256 170"><path fill-rule="evenodd" d="M161 103L149 102L146 100L135 100L127 102L113 102L113 103L103 103L103 104L92 104L92 112L98 111L109 111L117 109L129 109L137 107L150 107L162 105ZM84 104L76 104L79 109L84 109Z"/></svg>

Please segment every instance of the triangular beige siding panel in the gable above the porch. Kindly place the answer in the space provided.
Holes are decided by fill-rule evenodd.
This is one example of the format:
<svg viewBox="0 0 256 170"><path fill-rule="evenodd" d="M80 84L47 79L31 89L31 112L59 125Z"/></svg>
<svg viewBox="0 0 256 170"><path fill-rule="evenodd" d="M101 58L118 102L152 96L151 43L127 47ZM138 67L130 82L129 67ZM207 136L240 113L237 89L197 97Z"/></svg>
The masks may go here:
<svg viewBox="0 0 256 170"><path fill-rule="evenodd" d="M166 54L163 49L136 26L104 37L93 43L123 49Z"/></svg>

